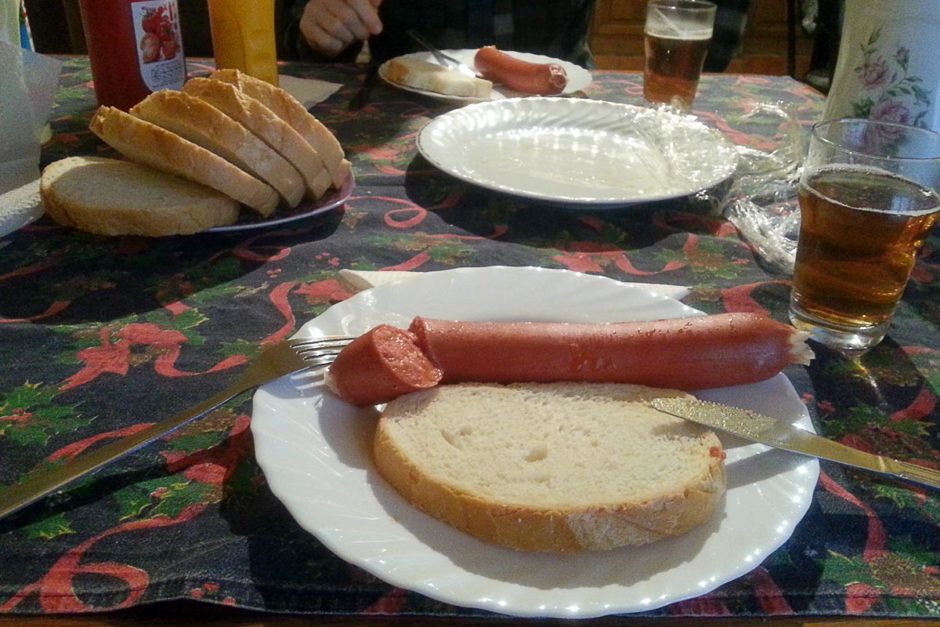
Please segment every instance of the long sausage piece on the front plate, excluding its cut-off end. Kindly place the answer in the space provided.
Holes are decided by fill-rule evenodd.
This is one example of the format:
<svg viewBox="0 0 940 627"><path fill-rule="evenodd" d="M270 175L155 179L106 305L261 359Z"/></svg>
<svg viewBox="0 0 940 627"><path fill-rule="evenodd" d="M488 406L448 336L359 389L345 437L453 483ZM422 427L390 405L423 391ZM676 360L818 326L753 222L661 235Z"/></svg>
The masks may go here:
<svg viewBox="0 0 940 627"><path fill-rule="evenodd" d="M452 322L410 330L442 383L589 381L697 390L754 383L812 352L805 335L748 313L613 324Z"/></svg>

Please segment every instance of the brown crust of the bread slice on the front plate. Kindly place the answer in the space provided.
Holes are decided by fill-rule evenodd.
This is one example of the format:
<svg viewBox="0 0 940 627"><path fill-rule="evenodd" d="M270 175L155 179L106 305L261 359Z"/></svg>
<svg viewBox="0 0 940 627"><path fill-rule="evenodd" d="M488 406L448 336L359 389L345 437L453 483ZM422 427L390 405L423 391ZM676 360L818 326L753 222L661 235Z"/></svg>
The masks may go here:
<svg viewBox="0 0 940 627"><path fill-rule="evenodd" d="M426 402L445 388L416 392L405 403ZM522 384L557 387L559 384ZM616 386L612 384L560 384L581 388ZM513 388L512 386L493 386ZM644 388L648 395L652 388ZM654 391L661 395L682 395L674 390ZM707 466L700 476L682 485L664 485L639 501L605 502L589 505L551 507L539 504L502 502L466 489L450 477L435 474L423 459L415 458L397 439L392 421L398 401L389 404L379 421L373 441L376 467L405 499L431 516L483 541L522 551L577 552L608 550L641 545L685 533L709 520L724 493L725 474L721 443L714 433L702 431L709 451ZM400 405L400 404L399 404ZM413 405L412 405L413 406ZM391 410L391 411L389 411ZM508 411L511 408L507 407ZM420 412L415 419L420 420ZM509 416L510 420L515 416ZM589 460L588 460L589 461Z"/></svg>

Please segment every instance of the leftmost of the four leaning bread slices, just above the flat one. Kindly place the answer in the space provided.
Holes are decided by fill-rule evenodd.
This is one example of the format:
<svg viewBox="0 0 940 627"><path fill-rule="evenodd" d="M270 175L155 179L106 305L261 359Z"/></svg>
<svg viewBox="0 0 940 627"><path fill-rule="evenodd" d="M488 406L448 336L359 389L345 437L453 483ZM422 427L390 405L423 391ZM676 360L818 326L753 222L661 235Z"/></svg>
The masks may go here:
<svg viewBox="0 0 940 627"><path fill-rule="evenodd" d="M176 133L117 109L99 107L92 132L128 159L208 185L264 216L279 197L273 187Z"/></svg>

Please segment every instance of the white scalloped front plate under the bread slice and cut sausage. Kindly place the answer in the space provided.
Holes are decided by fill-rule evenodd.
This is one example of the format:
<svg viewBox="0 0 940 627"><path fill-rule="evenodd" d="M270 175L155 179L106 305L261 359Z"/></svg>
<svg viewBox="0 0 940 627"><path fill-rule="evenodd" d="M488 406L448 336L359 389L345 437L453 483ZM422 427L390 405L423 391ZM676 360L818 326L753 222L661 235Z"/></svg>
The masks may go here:
<svg viewBox="0 0 940 627"><path fill-rule="evenodd" d="M465 320L612 322L697 315L680 302L567 270L465 268L361 292L298 335L361 333L415 315ZM710 390L703 398L812 430L789 380ZM728 490L713 519L644 547L576 555L486 544L408 504L379 476L377 412L319 382L285 377L254 397L255 454L275 496L339 557L395 586L454 605L519 616L586 618L652 610L695 597L757 567L810 505L815 459L721 436Z"/></svg>

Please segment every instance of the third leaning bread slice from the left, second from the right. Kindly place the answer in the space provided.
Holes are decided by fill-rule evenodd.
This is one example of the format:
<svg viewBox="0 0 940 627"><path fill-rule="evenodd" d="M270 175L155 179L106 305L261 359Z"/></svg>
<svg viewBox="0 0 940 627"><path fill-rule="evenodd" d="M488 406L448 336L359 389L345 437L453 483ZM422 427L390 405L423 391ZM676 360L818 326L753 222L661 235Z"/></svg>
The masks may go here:
<svg viewBox="0 0 940 627"><path fill-rule="evenodd" d="M191 78L183 91L208 102L229 117L243 124L291 163L304 179L308 196L320 198L329 186L320 155L287 122L279 118L260 100L242 93L231 83L210 78ZM324 187L324 179L326 187Z"/></svg>

